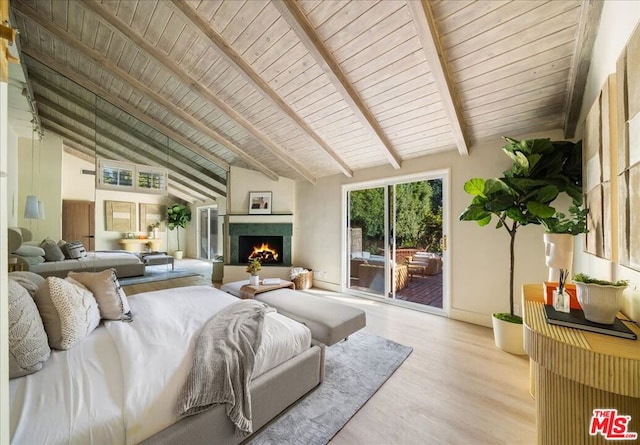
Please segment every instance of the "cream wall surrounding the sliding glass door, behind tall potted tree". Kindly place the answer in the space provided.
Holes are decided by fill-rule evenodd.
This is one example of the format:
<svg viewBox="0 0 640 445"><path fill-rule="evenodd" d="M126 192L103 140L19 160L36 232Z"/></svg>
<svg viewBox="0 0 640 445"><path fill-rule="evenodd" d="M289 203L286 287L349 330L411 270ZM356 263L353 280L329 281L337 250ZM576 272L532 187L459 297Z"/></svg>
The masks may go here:
<svg viewBox="0 0 640 445"><path fill-rule="evenodd" d="M509 136L563 139L560 131ZM475 222L460 222L458 216L471 202L471 196L463 190L464 182L472 177L500 176L509 167L510 160L501 150L503 145L502 140L496 140L471 147L470 156L466 158L457 152L447 152L405 161L399 170L378 167L358 171L353 178L340 175L321 179L316 185L298 183L296 258L314 270L326 271L326 276L314 276L316 286L338 288L344 257L341 248L342 185L450 169L450 316L490 326L493 312L509 309L509 236L504 229L493 229L493 225L479 227ZM546 279L542 233L540 226L526 226L516 236L516 298L523 283Z"/></svg>

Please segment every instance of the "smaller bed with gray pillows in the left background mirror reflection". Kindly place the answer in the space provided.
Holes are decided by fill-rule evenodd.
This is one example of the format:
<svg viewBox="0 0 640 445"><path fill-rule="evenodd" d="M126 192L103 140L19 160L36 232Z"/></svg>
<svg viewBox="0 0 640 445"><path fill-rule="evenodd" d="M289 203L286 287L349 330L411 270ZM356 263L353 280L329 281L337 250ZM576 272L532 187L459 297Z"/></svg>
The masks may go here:
<svg viewBox="0 0 640 445"><path fill-rule="evenodd" d="M74 259L64 258L61 252L59 255L62 256L50 257L45 254L46 249L42 248L48 240L44 240L42 243L33 243L32 238L31 231L28 229L10 227L8 230L8 251L23 270L37 273L43 277L64 278L70 271L99 272L107 269L115 269L120 278L144 275L144 263L132 252L125 250L91 251L83 253L86 256Z"/></svg>

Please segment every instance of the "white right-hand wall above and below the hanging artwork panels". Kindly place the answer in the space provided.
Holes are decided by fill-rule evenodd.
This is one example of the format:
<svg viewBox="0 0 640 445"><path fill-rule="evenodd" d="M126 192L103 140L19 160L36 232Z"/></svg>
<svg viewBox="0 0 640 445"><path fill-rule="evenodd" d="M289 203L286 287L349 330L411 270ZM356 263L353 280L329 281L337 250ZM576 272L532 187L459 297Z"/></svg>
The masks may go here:
<svg viewBox="0 0 640 445"><path fill-rule="evenodd" d="M602 10L598 37L594 44L580 122L584 122L591 105L606 78L616 72L616 62L634 29L640 23L639 1L607 1ZM579 126L582 131L582 125ZM615 159L612 159L612 164ZM613 166L613 165L612 165ZM615 166L613 166L615 168ZM617 209L612 210L617 215ZM615 238L614 238L615 239ZM574 271L584 272L603 279L628 279L631 285L624 293L623 311L634 320L640 319L640 272L620 266L582 251L582 237L576 240ZM615 260L615 258L614 258Z"/></svg>

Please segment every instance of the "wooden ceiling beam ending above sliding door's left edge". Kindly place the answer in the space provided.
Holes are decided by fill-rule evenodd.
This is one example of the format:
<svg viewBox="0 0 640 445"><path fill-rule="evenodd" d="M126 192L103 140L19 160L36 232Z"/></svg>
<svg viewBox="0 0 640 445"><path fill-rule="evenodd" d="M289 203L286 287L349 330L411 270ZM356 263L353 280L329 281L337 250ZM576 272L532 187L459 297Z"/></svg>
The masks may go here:
<svg viewBox="0 0 640 445"><path fill-rule="evenodd" d="M323 150L333 160L333 163L347 177L353 177L353 171L335 152L335 150L316 133L306 121L289 106L278 93L247 63L240 54L229 45L222 36L216 32L211 25L198 14L198 11L190 4L182 0L172 0L174 9L180 12L183 17L195 25L198 32L208 41L218 48L221 57L234 68L247 82L252 84L258 91L263 92L263 97L284 112L311 141Z"/></svg>

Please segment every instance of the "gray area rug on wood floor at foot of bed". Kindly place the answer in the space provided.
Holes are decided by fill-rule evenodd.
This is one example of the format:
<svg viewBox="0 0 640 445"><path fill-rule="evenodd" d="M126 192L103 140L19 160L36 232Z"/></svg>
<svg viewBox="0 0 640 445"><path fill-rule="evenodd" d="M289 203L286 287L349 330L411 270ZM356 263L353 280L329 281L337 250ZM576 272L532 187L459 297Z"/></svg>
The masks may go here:
<svg viewBox="0 0 640 445"><path fill-rule="evenodd" d="M413 349L356 332L326 348L325 378L245 443L324 445L375 394Z"/></svg>

